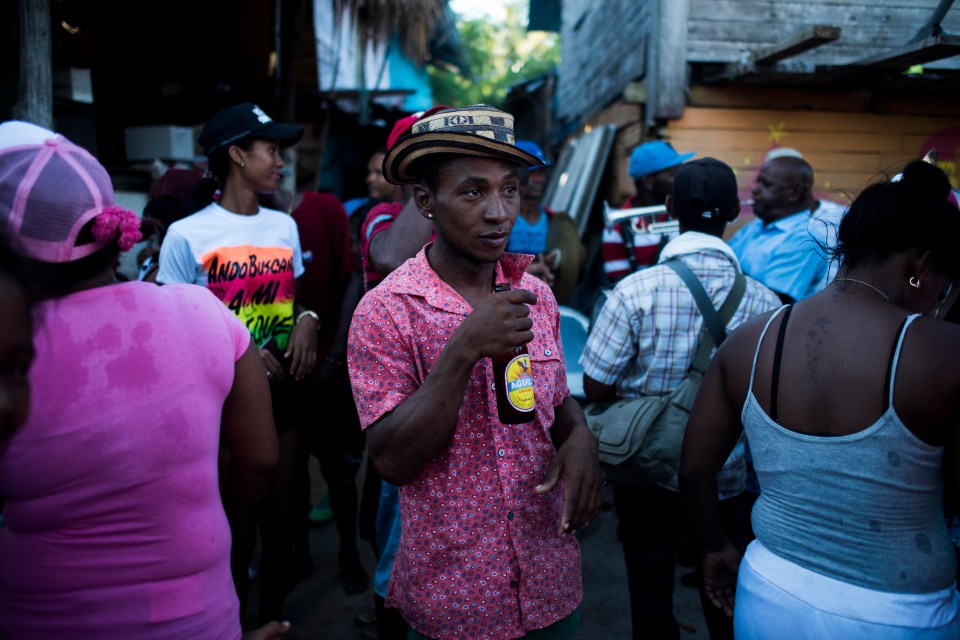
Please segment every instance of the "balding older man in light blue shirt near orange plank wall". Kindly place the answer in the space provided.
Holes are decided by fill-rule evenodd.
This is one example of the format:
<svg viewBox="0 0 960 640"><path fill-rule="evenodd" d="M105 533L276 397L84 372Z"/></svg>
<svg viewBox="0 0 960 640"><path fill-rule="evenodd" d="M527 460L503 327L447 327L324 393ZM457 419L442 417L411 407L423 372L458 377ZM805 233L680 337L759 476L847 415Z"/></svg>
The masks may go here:
<svg viewBox="0 0 960 640"><path fill-rule="evenodd" d="M763 165L753 188L757 219L730 240L744 273L784 302L819 290L828 260L808 231L813 171L801 158L783 156Z"/></svg>

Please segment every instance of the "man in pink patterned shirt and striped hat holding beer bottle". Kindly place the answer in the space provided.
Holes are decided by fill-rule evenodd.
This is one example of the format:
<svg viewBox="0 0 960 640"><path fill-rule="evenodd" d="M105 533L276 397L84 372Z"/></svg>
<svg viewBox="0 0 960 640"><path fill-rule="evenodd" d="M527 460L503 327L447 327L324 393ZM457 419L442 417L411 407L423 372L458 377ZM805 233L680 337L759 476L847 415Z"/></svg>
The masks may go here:
<svg viewBox="0 0 960 640"><path fill-rule="evenodd" d="M364 296L349 338L371 459L400 485L386 604L412 638L569 639L579 625L570 534L600 507L596 441L567 388L556 300L531 256L504 253L517 168L538 162L512 116L483 105L428 111L384 161L436 235ZM524 344L536 408L504 424L491 357Z"/></svg>

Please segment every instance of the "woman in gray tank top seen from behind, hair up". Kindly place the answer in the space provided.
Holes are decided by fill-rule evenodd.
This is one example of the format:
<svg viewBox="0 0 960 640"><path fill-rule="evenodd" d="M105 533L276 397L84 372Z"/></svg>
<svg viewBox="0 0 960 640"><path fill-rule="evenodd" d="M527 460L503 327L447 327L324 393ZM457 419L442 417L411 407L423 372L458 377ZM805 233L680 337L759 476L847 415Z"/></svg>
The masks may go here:
<svg viewBox="0 0 960 640"><path fill-rule="evenodd" d="M944 486L960 326L943 320L960 295L960 210L935 166L900 178L851 205L824 291L727 339L691 413L681 497L737 638L960 638L944 517L944 490L960 488ZM741 430L761 489L742 559L715 480Z"/></svg>

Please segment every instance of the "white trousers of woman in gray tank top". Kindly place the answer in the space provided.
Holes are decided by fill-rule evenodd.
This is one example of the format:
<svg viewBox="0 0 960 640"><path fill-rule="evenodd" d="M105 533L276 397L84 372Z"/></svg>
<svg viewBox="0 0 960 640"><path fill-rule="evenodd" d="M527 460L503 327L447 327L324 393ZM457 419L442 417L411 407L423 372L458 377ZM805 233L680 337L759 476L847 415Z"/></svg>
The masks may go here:
<svg viewBox="0 0 960 640"><path fill-rule="evenodd" d="M804 569L754 540L737 579L737 640L957 640L956 585L935 593L886 593Z"/></svg>

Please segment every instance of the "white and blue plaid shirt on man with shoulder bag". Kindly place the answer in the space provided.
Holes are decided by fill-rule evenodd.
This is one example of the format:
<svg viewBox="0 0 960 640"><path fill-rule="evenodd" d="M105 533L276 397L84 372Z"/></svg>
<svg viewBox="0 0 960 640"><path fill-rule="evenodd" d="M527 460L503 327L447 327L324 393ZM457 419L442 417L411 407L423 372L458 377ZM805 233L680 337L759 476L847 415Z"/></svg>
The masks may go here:
<svg viewBox="0 0 960 640"><path fill-rule="evenodd" d="M678 253L678 246L683 246L684 252ZM693 271L719 309L739 269L729 247L719 238L689 231L667 243L660 259L673 256L679 256ZM780 305L776 294L747 277L743 299L727 330ZM586 375L616 386L619 397L664 395L686 377L703 326L693 294L672 269L660 265L643 269L610 292L580 363ZM738 445L721 472L721 499L743 490L742 456ZM676 488L675 479L664 486Z"/></svg>

